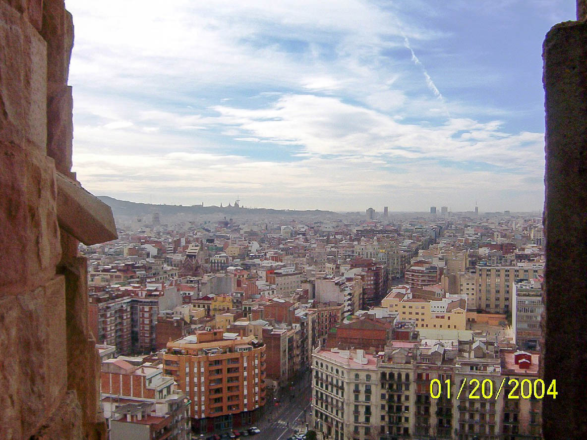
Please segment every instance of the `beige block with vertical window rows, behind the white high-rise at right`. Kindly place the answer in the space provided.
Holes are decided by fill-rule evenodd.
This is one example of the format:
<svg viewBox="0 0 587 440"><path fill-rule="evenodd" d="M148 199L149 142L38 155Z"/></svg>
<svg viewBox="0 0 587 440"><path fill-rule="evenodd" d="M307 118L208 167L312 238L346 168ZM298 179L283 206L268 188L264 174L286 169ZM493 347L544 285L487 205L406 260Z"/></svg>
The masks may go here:
<svg viewBox="0 0 587 440"><path fill-rule="evenodd" d="M514 282L544 275L544 265L528 263L519 266L477 265L477 309L490 313L508 313L514 307Z"/></svg>

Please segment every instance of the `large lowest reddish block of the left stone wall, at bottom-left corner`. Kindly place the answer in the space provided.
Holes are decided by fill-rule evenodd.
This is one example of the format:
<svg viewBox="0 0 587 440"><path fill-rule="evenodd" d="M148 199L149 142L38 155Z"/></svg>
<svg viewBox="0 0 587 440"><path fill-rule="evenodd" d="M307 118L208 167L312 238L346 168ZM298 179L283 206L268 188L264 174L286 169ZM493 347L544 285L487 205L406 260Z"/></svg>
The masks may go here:
<svg viewBox="0 0 587 440"><path fill-rule="evenodd" d="M0 438L28 438L65 395L65 278L0 300ZM22 434L21 434L22 433Z"/></svg>

